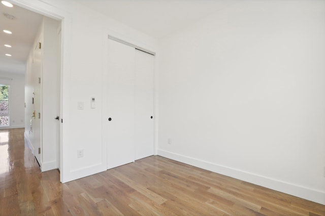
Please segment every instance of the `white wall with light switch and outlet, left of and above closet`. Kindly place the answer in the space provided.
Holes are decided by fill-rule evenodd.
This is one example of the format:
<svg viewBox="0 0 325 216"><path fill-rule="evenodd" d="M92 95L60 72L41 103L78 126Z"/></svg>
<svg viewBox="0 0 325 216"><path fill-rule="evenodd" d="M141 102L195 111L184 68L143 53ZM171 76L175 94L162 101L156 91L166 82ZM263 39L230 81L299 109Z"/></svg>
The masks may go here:
<svg viewBox="0 0 325 216"><path fill-rule="evenodd" d="M60 7L66 8L64 5ZM74 4L72 7L69 115L63 116L63 128L69 131L69 144L63 143L66 147L69 145L64 150L69 155L69 161L63 161L63 170L66 170L64 182L107 169L106 143L102 133L102 123L107 118L103 116L102 97L103 85L106 84L103 73L106 71L104 53L108 34L148 50L155 50L156 46L155 40L147 35L81 5ZM95 109L90 108L91 97L96 100ZM84 103L83 110L77 109L78 102ZM63 104L63 109L65 107L66 104ZM67 126L64 122L68 118ZM77 158L79 149L83 150L84 157Z"/></svg>

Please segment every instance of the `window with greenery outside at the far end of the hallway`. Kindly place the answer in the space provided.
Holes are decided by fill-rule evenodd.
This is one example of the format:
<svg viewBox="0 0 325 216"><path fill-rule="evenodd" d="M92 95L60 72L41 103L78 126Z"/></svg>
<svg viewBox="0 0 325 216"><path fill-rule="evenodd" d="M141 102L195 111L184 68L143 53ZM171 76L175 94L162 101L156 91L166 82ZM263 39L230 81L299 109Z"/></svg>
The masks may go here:
<svg viewBox="0 0 325 216"><path fill-rule="evenodd" d="M0 127L9 126L9 85L0 84Z"/></svg>

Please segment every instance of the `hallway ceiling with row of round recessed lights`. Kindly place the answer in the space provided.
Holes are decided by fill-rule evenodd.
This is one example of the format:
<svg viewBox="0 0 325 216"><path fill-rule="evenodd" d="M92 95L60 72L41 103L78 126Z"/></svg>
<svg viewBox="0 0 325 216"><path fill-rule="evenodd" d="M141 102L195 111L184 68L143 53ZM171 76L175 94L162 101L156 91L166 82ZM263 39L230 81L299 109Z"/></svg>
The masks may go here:
<svg viewBox="0 0 325 216"><path fill-rule="evenodd" d="M8 19L5 14L14 16ZM0 71L24 74L25 62L34 42L43 16L18 6L6 7L0 3ZM12 34L3 32L10 30ZM11 45L7 48L4 45ZM12 56L6 56L11 54Z"/></svg>

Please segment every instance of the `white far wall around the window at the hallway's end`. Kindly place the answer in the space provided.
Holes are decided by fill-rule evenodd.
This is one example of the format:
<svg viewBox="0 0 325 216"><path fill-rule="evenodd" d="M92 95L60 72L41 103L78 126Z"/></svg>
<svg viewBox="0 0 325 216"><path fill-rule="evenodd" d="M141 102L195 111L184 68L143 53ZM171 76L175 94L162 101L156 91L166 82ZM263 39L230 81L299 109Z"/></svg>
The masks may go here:
<svg viewBox="0 0 325 216"><path fill-rule="evenodd" d="M1 79L1 78L9 79ZM12 79L12 80L10 80ZM8 73L0 71L0 84L9 84L9 110L10 110L10 125L4 128L21 128L24 127L24 82L25 76L16 73Z"/></svg>

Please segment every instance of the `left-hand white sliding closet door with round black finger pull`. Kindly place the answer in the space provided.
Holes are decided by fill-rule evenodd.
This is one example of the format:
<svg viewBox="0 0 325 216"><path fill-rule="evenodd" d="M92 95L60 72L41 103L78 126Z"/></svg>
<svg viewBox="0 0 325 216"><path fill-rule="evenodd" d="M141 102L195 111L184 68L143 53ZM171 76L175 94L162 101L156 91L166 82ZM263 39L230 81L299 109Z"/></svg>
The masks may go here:
<svg viewBox="0 0 325 216"><path fill-rule="evenodd" d="M106 80L107 168L135 160L135 49L108 41Z"/></svg>

